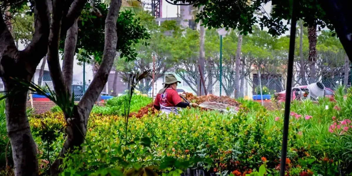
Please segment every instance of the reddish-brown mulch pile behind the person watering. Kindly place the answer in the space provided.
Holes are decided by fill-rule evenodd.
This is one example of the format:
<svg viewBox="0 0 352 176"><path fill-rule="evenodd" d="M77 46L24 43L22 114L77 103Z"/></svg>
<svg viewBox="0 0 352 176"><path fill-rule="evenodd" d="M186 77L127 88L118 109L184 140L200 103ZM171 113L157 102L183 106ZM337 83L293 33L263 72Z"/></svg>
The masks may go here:
<svg viewBox="0 0 352 176"><path fill-rule="evenodd" d="M212 94L205 95L205 96L194 96L192 93L183 93L181 94L184 98L186 98L190 102L196 102L197 104L201 104L204 102L217 102L223 103L228 106L235 106L239 107L240 103L237 102L235 99L232 99L228 96L215 96ZM184 100L182 100L184 101ZM209 110L206 108L202 108L203 110ZM137 113L130 113L129 117L135 116L136 118L142 118L145 114L150 112L151 114L155 114L157 110L153 107L153 103L148 104L147 106L141 108Z"/></svg>

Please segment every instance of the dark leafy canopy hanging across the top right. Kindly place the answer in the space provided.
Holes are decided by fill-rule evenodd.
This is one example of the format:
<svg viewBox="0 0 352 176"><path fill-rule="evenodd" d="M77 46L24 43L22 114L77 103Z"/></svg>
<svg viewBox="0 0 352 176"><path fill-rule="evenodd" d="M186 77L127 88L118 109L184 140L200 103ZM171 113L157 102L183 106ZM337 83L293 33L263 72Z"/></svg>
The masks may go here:
<svg viewBox="0 0 352 176"><path fill-rule="evenodd" d="M171 4L192 4L194 7L204 6L203 10L196 14L196 21L211 28L226 27L226 29L238 29L241 34L253 33L253 26L259 24L261 29L268 28L269 34L279 36L288 28L282 19L290 21L290 1L283 0L170 0ZM333 26L326 18L318 0L297 0L298 19L305 21L305 26L327 26L333 30ZM265 12L264 5L271 2L272 12ZM259 15L258 15L259 13Z"/></svg>

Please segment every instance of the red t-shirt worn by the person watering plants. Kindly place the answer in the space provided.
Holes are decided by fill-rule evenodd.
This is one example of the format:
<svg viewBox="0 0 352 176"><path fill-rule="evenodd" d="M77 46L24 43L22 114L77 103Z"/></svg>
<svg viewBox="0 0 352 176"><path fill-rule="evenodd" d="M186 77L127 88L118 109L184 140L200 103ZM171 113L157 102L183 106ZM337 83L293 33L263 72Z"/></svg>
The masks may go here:
<svg viewBox="0 0 352 176"><path fill-rule="evenodd" d="M176 107L182 102L180 95L172 88L167 88L163 94L157 94L154 101L155 106Z"/></svg>

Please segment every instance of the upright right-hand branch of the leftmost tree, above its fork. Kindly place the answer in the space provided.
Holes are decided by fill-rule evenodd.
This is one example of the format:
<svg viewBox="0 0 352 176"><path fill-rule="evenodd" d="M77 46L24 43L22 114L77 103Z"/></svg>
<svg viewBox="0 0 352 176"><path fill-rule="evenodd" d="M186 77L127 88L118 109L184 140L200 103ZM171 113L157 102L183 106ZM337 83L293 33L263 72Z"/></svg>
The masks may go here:
<svg viewBox="0 0 352 176"><path fill-rule="evenodd" d="M48 46L49 37L49 19L50 12L48 9L48 1L35 1L34 8L34 34L31 43L21 52L25 54L24 59L33 59L33 65L36 67L40 60L46 54L46 48ZM32 66L33 66L32 65Z"/></svg>

